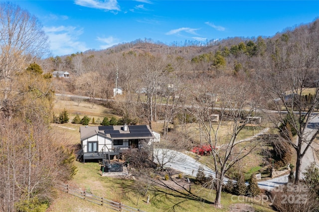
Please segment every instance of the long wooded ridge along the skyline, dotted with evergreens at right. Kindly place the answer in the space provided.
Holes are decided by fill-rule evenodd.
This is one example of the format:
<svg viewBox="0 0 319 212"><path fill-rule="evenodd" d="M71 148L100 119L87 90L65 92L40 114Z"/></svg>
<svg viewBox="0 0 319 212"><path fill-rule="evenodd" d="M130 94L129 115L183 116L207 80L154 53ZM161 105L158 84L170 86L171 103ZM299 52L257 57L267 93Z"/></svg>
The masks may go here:
<svg viewBox="0 0 319 212"><path fill-rule="evenodd" d="M316 19L310 24L287 28L273 37L234 37L210 41L206 44L185 41L180 44L165 45L160 42L153 42L150 39L140 39L105 50L89 50L68 56L51 57L45 60L42 66L47 72L52 70L68 71L73 77L90 71L121 72L112 64L115 61L121 61L125 54L139 56L149 53L160 57L166 65L171 63L167 61L170 57L179 57L188 63L187 69L189 71L210 71L211 74L214 72L219 74L220 72L228 74L245 72L247 74L247 72L258 67L256 62L260 61L266 54L273 54L276 48L289 46L302 39L318 42L318 22L319 19ZM310 45L312 44L310 43ZM123 85L121 86L123 87Z"/></svg>

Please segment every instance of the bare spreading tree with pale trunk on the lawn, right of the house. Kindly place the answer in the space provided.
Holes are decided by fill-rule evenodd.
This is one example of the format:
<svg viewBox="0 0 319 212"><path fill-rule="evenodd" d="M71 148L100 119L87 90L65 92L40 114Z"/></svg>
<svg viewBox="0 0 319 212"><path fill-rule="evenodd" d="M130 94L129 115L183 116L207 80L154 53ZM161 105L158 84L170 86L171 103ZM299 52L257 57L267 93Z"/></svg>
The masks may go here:
<svg viewBox="0 0 319 212"><path fill-rule="evenodd" d="M222 77L219 83L202 81L192 93L192 108L189 111L200 122L200 131L212 147L212 159L216 174L215 206L221 207L221 191L226 172L238 161L249 155L257 143L239 141L238 134L248 123L255 109L253 87L238 79ZM218 98L218 105L216 102ZM219 114L215 123L211 115ZM231 124L228 134L219 134L222 123Z"/></svg>

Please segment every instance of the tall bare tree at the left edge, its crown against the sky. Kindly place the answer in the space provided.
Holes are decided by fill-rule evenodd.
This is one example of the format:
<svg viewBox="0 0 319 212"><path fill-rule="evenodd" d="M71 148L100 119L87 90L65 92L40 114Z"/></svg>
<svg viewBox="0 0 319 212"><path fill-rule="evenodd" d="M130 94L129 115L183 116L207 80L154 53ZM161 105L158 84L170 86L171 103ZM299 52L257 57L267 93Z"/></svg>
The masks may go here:
<svg viewBox="0 0 319 212"><path fill-rule="evenodd" d="M0 3L0 107L13 89L14 75L48 53L47 39L35 16L13 3Z"/></svg>

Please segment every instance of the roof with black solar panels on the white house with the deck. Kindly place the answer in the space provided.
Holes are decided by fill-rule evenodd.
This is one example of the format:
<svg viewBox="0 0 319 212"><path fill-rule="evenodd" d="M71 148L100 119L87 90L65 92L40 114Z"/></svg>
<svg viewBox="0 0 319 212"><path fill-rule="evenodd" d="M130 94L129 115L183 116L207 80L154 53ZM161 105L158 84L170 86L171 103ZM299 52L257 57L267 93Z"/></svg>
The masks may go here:
<svg viewBox="0 0 319 212"><path fill-rule="evenodd" d="M124 131L123 125L115 126L81 126L81 141L94 135L101 135L110 139L150 139L155 138L149 125L128 125Z"/></svg>

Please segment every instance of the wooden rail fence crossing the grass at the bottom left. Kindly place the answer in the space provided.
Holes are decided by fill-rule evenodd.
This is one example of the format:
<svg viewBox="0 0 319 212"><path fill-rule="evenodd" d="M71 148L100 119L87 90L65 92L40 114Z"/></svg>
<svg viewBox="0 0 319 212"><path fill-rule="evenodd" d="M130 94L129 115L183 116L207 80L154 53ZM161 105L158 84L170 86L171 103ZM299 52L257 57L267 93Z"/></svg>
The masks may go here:
<svg viewBox="0 0 319 212"><path fill-rule="evenodd" d="M122 203L114 202L111 200L104 199L103 197L98 197L93 194L89 194L86 191L80 189L72 188L69 185L60 185L60 189L70 195L78 197L82 200L89 201L91 203L118 211L118 212L144 212L140 209L132 208L130 206L124 205Z"/></svg>

